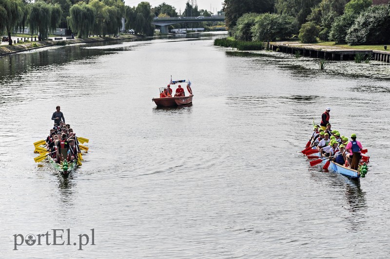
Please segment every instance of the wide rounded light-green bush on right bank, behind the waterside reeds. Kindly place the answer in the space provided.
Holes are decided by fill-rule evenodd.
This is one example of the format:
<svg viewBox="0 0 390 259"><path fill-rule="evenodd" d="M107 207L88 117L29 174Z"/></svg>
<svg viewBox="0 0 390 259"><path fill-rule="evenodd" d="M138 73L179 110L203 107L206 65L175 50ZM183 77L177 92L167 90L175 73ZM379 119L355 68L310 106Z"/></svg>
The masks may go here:
<svg viewBox="0 0 390 259"><path fill-rule="evenodd" d="M254 40L275 40L290 37L298 32L296 20L288 15L261 14L252 27Z"/></svg>

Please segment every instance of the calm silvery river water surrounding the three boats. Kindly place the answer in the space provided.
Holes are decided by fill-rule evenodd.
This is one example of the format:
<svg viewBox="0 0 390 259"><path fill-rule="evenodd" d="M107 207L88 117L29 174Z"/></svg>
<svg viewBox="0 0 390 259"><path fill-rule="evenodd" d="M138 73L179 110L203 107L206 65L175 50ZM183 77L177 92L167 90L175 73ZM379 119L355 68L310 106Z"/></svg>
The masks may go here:
<svg viewBox="0 0 390 259"><path fill-rule="evenodd" d="M0 57L0 258L388 257L390 66L319 72L312 58L213 37ZM193 106L156 109L171 75L191 80ZM33 160L57 105L90 139L68 178ZM332 128L369 149L360 183L297 152L328 106ZM13 251L13 235L51 229L70 229L71 245ZM78 251L90 229L95 245Z"/></svg>

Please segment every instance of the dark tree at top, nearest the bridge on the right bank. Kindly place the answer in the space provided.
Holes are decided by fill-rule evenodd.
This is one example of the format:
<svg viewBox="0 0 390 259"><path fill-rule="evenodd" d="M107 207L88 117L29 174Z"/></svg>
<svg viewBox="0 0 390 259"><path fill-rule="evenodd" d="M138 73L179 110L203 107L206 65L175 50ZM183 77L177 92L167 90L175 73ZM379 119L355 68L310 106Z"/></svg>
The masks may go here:
<svg viewBox="0 0 390 259"><path fill-rule="evenodd" d="M243 14L272 12L273 0L224 0L223 11L226 26L231 30Z"/></svg>

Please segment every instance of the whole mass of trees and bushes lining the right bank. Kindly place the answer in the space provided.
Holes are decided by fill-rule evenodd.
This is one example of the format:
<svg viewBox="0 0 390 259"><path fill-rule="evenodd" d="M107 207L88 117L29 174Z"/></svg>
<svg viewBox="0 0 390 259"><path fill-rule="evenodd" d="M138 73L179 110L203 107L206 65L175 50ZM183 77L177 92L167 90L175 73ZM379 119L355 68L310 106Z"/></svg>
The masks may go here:
<svg viewBox="0 0 390 259"><path fill-rule="evenodd" d="M239 40L299 37L350 45L390 42L390 4L372 0L224 0L229 33Z"/></svg>

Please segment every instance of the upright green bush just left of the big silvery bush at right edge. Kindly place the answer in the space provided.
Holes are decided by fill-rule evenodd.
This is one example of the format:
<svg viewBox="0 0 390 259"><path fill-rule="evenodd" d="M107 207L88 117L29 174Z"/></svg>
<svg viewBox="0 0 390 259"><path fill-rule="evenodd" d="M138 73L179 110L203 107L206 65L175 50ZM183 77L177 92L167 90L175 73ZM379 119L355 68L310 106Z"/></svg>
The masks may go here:
<svg viewBox="0 0 390 259"><path fill-rule="evenodd" d="M337 17L331 25L329 39L338 43L345 43L347 32L355 21L355 17L352 13L345 13Z"/></svg>

